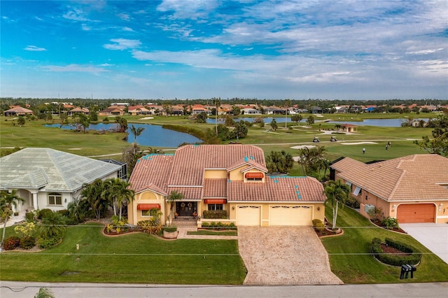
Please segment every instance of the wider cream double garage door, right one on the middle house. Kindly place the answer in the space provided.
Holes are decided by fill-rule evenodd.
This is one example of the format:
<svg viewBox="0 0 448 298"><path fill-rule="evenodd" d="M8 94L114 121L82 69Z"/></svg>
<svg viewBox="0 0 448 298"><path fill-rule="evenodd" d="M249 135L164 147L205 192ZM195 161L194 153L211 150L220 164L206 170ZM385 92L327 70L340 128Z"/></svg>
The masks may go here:
<svg viewBox="0 0 448 298"><path fill-rule="evenodd" d="M310 206L270 206L269 225L312 225L312 211Z"/></svg>

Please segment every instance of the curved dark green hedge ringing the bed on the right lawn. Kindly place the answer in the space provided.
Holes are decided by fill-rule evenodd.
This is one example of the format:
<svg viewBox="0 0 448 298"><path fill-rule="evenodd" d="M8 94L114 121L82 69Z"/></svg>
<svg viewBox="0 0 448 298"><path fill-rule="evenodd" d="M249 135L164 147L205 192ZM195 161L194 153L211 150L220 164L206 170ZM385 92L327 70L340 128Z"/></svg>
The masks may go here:
<svg viewBox="0 0 448 298"><path fill-rule="evenodd" d="M393 248L396 248L403 253L410 253L411 255L388 255L381 249L381 240L374 238L372 240L372 253L374 256L384 264L400 267L402 264L416 265L421 261L421 252L412 246L408 246L405 243L394 241L386 238L386 244Z"/></svg>

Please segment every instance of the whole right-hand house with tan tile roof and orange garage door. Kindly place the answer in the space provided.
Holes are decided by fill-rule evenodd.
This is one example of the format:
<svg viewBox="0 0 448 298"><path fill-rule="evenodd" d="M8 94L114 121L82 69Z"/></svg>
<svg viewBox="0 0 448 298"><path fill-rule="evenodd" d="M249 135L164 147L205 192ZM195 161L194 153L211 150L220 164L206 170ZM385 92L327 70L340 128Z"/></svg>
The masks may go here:
<svg viewBox="0 0 448 298"><path fill-rule="evenodd" d="M381 209L399 223L448 222L448 158L416 154L364 164L345 157L333 163L330 178L351 186L360 213Z"/></svg>

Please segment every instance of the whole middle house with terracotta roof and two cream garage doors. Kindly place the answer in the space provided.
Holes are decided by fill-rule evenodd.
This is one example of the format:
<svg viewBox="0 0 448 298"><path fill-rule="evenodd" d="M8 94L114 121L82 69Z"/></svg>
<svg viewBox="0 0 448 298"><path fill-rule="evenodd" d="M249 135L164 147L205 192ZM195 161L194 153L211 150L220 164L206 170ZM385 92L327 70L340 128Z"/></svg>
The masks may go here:
<svg viewBox="0 0 448 298"><path fill-rule="evenodd" d="M224 211L236 225L311 225L324 220L325 194L316 178L269 176L261 148L251 145L187 145L172 155L151 154L138 160L130 177L134 201L128 220L148 220L159 208L169 221L167 197L176 190L183 199L174 211L180 217L203 217L204 211Z"/></svg>

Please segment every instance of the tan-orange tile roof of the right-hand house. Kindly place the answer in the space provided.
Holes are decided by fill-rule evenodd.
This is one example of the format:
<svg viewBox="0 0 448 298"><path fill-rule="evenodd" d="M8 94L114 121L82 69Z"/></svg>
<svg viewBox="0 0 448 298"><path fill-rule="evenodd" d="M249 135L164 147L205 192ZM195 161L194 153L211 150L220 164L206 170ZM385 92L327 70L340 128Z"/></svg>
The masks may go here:
<svg viewBox="0 0 448 298"><path fill-rule="evenodd" d="M346 157L331 166L339 177L388 201L448 199L448 158L421 154L363 164Z"/></svg>

